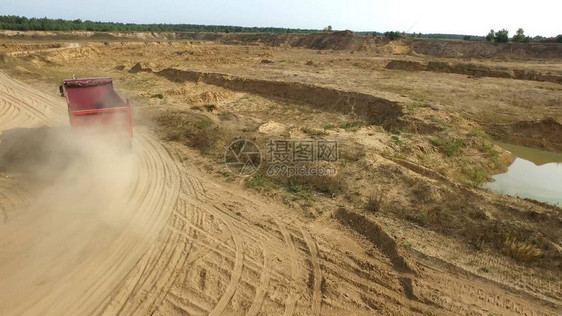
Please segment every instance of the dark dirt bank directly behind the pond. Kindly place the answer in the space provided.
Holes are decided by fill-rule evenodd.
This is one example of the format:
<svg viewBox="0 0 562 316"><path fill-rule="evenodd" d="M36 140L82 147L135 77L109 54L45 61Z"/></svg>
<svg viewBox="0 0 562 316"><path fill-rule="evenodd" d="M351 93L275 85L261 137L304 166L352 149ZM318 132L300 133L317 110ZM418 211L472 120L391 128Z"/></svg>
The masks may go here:
<svg viewBox="0 0 562 316"><path fill-rule="evenodd" d="M506 143L562 152L562 124L554 118L490 125L489 133Z"/></svg>

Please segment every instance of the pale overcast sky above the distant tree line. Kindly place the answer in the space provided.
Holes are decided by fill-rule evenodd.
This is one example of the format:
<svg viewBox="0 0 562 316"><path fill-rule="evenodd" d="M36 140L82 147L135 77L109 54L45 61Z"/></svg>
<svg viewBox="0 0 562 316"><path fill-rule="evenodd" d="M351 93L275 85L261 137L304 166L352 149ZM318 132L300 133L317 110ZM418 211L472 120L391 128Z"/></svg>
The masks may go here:
<svg viewBox="0 0 562 316"><path fill-rule="evenodd" d="M501 28L512 35L522 27L531 36L562 34L561 0L0 0L0 15L470 35Z"/></svg>

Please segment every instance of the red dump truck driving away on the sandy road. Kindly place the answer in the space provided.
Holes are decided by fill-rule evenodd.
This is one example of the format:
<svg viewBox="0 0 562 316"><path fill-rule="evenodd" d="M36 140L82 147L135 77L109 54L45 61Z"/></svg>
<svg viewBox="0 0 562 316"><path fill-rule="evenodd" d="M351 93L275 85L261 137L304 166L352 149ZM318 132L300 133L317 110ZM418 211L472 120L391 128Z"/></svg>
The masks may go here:
<svg viewBox="0 0 562 316"><path fill-rule="evenodd" d="M128 100L113 90L110 77L65 79L60 90L66 97L70 124L77 134L103 134L106 138L131 142L131 107Z"/></svg>

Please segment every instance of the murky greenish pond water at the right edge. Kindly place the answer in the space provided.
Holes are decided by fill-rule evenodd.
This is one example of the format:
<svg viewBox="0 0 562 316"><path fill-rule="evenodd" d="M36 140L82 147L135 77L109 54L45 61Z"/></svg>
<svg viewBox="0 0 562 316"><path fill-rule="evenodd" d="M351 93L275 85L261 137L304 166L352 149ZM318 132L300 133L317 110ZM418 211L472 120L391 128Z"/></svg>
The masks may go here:
<svg viewBox="0 0 562 316"><path fill-rule="evenodd" d="M497 143L517 158L485 187L501 194L562 205L562 153Z"/></svg>

